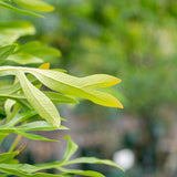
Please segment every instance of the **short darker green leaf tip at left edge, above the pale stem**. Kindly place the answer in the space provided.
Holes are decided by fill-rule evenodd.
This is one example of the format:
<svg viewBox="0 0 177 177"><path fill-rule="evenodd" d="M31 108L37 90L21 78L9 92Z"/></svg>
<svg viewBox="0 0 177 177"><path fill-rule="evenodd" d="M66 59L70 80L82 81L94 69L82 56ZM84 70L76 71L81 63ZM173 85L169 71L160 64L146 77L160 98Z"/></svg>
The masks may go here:
<svg viewBox="0 0 177 177"><path fill-rule="evenodd" d="M17 44L0 46L0 63L3 63L4 60L13 53Z"/></svg>

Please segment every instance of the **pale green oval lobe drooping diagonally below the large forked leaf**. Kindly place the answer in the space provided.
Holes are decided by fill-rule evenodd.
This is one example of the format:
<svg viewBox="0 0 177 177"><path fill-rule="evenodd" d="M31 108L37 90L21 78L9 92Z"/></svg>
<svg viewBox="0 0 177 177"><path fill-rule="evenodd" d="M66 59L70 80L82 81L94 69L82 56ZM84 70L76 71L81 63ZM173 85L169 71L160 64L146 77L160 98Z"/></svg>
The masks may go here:
<svg viewBox="0 0 177 177"><path fill-rule="evenodd" d="M56 107L53 105L53 103L50 101L49 97L46 97L40 90L38 90L35 86L33 86L27 76L23 74L23 72L18 72L18 77L20 81L20 84L22 86L22 90L24 92L25 97L30 102L30 104L34 107L37 113L46 119L49 123L51 123L53 126L60 126L60 115L56 110Z"/></svg>

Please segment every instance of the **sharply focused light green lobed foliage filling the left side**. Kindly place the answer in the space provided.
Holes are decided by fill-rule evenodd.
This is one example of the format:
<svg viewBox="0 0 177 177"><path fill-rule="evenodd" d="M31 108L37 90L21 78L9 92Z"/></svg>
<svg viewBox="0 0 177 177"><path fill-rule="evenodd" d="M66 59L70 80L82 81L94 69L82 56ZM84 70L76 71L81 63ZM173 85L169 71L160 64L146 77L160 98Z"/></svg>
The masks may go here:
<svg viewBox="0 0 177 177"><path fill-rule="evenodd" d="M39 11L48 12L54 8L41 0L0 0L0 7L20 12L23 14L41 17ZM31 11L32 10L32 11ZM37 11L37 12L33 12ZM104 164L117 167L111 160L97 159L93 157L81 157L71 159L76 152L77 145L66 136L69 142L63 158L59 162L29 165L19 164L15 158L22 149L17 149L20 137L33 140L55 142L37 134L33 131L67 129L61 125L60 113L55 103L79 103L75 97L86 98L96 104L122 108L122 104L111 94L97 91L100 87L113 86L121 82L106 74L96 74L85 77L76 77L64 73L64 70L50 70L50 64L45 63L35 67L12 66L43 63L43 55L60 56L56 49L45 46L39 41L21 44L19 39L23 35L34 34L34 27L27 21L13 21L0 23L0 76L11 82L3 82L0 87L1 122L0 143L10 134L18 134L17 139L9 152L0 154L1 176L17 175L22 177L71 177L74 175L103 177L97 171L67 169L71 164ZM7 65L12 63L11 65ZM30 132L30 133L29 133ZM40 173L42 169L56 168L59 175ZM118 167L117 167L118 168ZM123 169L122 169L123 170Z"/></svg>

